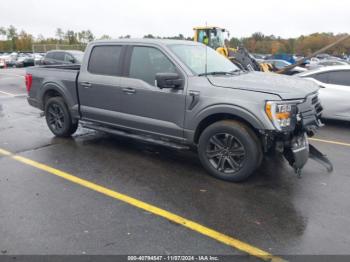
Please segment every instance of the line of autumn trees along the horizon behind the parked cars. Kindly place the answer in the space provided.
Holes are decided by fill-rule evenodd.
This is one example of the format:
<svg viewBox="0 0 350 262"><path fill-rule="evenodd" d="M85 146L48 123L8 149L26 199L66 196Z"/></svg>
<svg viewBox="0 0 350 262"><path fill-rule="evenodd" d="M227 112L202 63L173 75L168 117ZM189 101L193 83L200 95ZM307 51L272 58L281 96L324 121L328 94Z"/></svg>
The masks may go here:
<svg viewBox="0 0 350 262"><path fill-rule="evenodd" d="M245 46L252 53L261 54L276 54L289 53L298 55L311 54L322 47L335 42L344 34L335 35L333 33L314 33L306 36L296 38L281 38L274 35L264 35L261 32L252 34L249 37L230 39L231 47L239 45ZM131 38L130 35L119 36L119 38ZM176 36L160 37L152 34L144 35L144 38L164 38L164 39L179 39L179 40L193 40L192 37L185 37L183 34ZM88 42L95 39L112 39L108 34L96 37L90 30L82 30L76 32L74 30L62 30L57 28L55 37L45 38L43 35L34 37L32 34L24 30L18 31L14 26L8 28L0 27L0 51L31 51L33 44L48 45L81 45L85 46ZM350 54L350 39L344 41L336 47L328 50L332 55Z"/></svg>

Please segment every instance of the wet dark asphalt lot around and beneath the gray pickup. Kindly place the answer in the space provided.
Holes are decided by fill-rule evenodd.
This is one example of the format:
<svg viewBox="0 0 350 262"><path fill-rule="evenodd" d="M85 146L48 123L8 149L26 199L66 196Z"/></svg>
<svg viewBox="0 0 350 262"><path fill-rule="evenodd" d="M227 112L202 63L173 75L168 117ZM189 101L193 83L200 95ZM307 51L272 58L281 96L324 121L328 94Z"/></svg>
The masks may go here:
<svg viewBox="0 0 350 262"><path fill-rule="evenodd" d="M333 173L310 160L298 179L272 157L235 184L192 152L85 129L55 138L23 75L0 71L2 254L350 255L350 124L311 141Z"/></svg>

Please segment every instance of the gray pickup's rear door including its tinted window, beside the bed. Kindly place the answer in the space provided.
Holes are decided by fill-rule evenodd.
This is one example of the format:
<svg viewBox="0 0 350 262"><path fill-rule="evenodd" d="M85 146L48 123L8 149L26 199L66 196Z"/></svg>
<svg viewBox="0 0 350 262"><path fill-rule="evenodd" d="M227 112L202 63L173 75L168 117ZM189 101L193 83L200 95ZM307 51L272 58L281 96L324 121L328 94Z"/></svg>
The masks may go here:
<svg viewBox="0 0 350 262"><path fill-rule="evenodd" d="M123 50L123 46L116 44L96 45L91 48L89 59L84 60L78 77L83 119L119 123Z"/></svg>

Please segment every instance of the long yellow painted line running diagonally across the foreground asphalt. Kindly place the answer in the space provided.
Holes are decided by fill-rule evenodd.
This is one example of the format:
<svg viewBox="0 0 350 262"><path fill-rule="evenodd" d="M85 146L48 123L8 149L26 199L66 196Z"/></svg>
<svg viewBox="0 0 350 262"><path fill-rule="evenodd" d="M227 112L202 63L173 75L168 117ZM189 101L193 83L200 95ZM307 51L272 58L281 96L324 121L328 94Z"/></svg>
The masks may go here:
<svg viewBox="0 0 350 262"><path fill-rule="evenodd" d="M243 241L240 241L236 238L233 238L233 237L230 237L228 235L225 235L225 234L222 234L216 230L213 230L211 228L208 228L206 226L203 226L201 224L198 224L194 221L191 221L191 220L188 220L184 217L181 217L181 216L178 216L174 213L171 213L169 211L166 211L164 209L161 209L161 208L158 208L156 206L153 206L151 204L148 204L146 202L143 202L141 200L138 200L136 198L133 198L133 197L130 197L130 196L127 196L125 194L121 194L121 193L118 193L116 191L113 191L111 189L108 189L106 187L103 187L103 186L100 186L100 185L97 185L95 183L92 183L88 180L85 180L85 179L81 179L79 177L76 177L76 176L73 176L67 172L64 172L64 171L61 171L61 170L58 170L56 168L53 168L53 167L50 167L48 165L45 165L45 164L42 164L42 163L39 163L39 162L36 162L34 160L31 160L31 159L28 159L28 158L25 158L25 157L22 157L22 156L19 156L19 155L15 155L15 154L12 154L11 152L9 151L6 151L4 149L1 149L0 148L0 154L2 155L5 155L5 156L9 156L11 157L12 159L16 160L16 161L19 161L23 164L26 164L26 165L29 165L29 166L32 166L32 167L35 167L37 169L40 169L40 170L43 170L47 173L50 173L52 175L55 175L55 176L58 176L58 177L61 177L65 180L68 180L72 183L75 183L75 184L78 184L80 186L83 186L85 188L89 188L91 190L94 190L96 192L99 192L101 194L104 194L106 196L109 196L109 197L112 197L114 199L117 199L117 200L120 200L124 203L127 203L129 205L132 205L132 206L135 206L137 208L140 208L140 209L143 209L145 211L148 211L150 213L153 213L154 215L157 215L157 216L160 216L160 217L163 217L169 221L172 221L174 223L177 223L179 225L182 225L186 228L189 228L193 231L196 231L202 235L205 235L205 236L208 236L212 239L215 239L216 241L219 241L221 243L224 243L228 246L231 246L235 249L238 249L242 252L245 252L245 253L248 253L249 255L252 255L252 256L255 256L255 257L258 257L262 260L266 260L266 261L284 261L282 258L279 258L277 256L274 256L262 249L259 249L257 247L254 247L250 244L247 244Z"/></svg>

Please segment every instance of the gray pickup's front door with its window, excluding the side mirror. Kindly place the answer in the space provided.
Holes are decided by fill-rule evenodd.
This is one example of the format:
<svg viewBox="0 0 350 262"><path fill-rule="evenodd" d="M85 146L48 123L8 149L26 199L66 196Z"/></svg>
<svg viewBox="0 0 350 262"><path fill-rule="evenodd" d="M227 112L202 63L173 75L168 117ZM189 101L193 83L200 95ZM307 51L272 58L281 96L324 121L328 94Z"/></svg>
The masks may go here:
<svg viewBox="0 0 350 262"><path fill-rule="evenodd" d="M155 75L176 72L184 79L184 74L157 47L130 46L127 57L126 77L121 82L125 125L156 135L183 138L185 84L176 89L160 89L155 84Z"/></svg>

